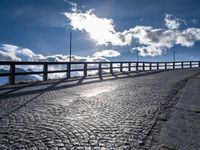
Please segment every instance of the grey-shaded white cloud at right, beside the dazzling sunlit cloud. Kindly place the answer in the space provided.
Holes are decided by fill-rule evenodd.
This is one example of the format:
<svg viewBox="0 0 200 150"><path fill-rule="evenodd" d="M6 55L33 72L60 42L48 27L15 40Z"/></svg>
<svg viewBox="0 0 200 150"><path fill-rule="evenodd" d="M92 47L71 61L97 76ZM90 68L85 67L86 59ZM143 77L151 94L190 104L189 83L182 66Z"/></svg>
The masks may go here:
<svg viewBox="0 0 200 150"><path fill-rule="evenodd" d="M134 29L134 38L141 46L134 47L141 56L158 56L174 45L192 47L200 41L200 29L188 28L186 30L154 29L152 27L137 26Z"/></svg>

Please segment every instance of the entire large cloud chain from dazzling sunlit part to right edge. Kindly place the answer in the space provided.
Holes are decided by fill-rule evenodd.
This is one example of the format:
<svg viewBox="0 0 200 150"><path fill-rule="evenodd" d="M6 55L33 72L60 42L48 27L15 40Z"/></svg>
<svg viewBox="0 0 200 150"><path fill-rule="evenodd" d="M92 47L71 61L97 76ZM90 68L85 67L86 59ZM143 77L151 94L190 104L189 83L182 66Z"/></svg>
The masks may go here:
<svg viewBox="0 0 200 150"><path fill-rule="evenodd" d="M135 26L122 32L115 30L112 19L96 16L94 10L82 12L66 12L64 15L69 19L74 30L86 32L98 45L127 46L133 42L140 46L133 47L141 56L162 55L174 45L191 47L196 41L200 41L200 28L187 28L179 30L184 20L173 15L166 14L164 21L167 29L153 28L151 26Z"/></svg>

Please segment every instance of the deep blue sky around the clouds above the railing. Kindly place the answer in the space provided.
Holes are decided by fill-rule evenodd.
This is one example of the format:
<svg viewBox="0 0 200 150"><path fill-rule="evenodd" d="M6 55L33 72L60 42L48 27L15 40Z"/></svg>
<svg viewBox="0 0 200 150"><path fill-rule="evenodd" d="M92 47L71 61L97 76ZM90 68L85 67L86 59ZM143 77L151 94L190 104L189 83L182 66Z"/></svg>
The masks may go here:
<svg viewBox="0 0 200 150"><path fill-rule="evenodd" d="M77 7L75 11L72 11L74 4ZM78 56L91 56L102 50L115 50L121 55L110 57L110 60L135 60L135 52L131 53L130 50L139 48L141 55L143 52L140 60L170 61L173 58L174 50L176 50L177 60L199 60L199 37L191 38L194 33L192 35L191 32L187 35L183 33L187 29L195 28L194 32L197 35L200 34L199 8L199 0L1 0L0 44L29 48L34 53L42 55L67 55L69 32L72 30L72 53ZM177 39L169 43L166 41L163 43L163 40L158 43L154 41L152 44L152 38L141 39L144 37L137 37L134 33L133 40L129 44L113 44L113 41L109 41L110 39L107 39L105 43L98 44L99 39L91 38L92 31L85 28L80 30L83 28L81 25L70 25L74 18L70 18L69 14L86 15L89 10L93 10L90 14L88 13L90 16L95 15L100 20L102 18L112 19L111 27L113 26L114 31L122 36L124 36L125 30L133 29L135 32L135 27L138 26L142 32L151 33L153 36L155 36L155 32L157 34L158 29L162 29L163 32L170 31L170 36L174 31L181 36L184 34L184 37L181 38L181 41L179 39L178 44ZM68 13L68 17L64 13ZM167 19L171 23L175 21L177 26L166 26ZM152 29L146 28L149 26ZM152 31L154 29L156 31ZM126 36L124 37L126 38ZM163 39L165 38L166 35ZM187 41L184 41L183 38L186 38ZM184 42L190 43L185 45ZM166 46L166 44L172 45ZM149 46L157 48L153 55L144 53L148 51ZM147 50L144 51L144 48ZM159 53L159 50L162 51L162 54Z"/></svg>

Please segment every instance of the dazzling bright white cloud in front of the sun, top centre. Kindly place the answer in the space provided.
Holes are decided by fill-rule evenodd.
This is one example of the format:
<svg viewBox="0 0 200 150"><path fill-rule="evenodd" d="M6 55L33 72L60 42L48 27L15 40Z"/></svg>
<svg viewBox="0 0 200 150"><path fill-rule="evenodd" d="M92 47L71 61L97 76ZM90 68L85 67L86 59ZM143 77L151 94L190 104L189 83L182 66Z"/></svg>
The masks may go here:
<svg viewBox="0 0 200 150"><path fill-rule="evenodd" d="M84 13L80 11L66 12L64 15L70 19L70 24L74 29L89 33L90 37L99 45L109 43L127 45L121 33L115 31L113 20L97 17L92 9Z"/></svg>

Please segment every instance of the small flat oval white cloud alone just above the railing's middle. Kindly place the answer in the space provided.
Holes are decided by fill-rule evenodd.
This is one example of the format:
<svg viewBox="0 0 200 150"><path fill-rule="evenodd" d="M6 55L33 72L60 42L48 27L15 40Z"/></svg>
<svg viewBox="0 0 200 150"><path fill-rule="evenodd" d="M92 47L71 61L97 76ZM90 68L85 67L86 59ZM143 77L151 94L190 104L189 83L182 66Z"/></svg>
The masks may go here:
<svg viewBox="0 0 200 150"><path fill-rule="evenodd" d="M96 57L117 57L120 56L120 53L115 50L103 50L93 54Z"/></svg>

